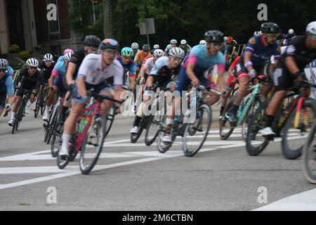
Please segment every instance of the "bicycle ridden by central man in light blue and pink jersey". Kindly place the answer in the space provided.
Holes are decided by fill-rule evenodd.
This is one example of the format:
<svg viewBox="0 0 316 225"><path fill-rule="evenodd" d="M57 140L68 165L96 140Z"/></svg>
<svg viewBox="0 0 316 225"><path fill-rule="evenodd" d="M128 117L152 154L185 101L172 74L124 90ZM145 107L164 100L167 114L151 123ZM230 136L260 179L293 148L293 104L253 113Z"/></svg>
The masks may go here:
<svg viewBox="0 0 316 225"><path fill-rule="evenodd" d="M192 90L194 91L195 89ZM191 98L190 96L190 98L187 99L189 103L192 101L192 108L190 108L190 114L192 113L193 108L196 109L195 120L194 122L184 123L186 117L185 115L183 115L183 113L181 113L181 115L179 116L175 116L173 127L171 128L171 143L164 143L164 141L162 141L162 136L164 136L164 132L166 131L166 127L164 125L166 117L164 117L162 122L160 122L159 131L157 135L157 148L160 153L166 153L166 151L169 150L169 148L175 141L176 136L183 137L182 147L185 156L192 157L199 151L200 148L202 148L203 143L206 140L206 137L209 134L209 129L211 127L211 107L208 104L204 103L204 95L208 94L209 91L212 91L216 94L220 93L213 89L205 89L204 86L197 87L196 91L196 98ZM206 115L206 117L204 117L204 115ZM203 125L206 125L204 131ZM204 134L202 134L203 132ZM195 136L195 134L197 135ZM192 141L194 137L202 137L202 139L198 141ZM190 148L192 146L194 147Z"/></svg>

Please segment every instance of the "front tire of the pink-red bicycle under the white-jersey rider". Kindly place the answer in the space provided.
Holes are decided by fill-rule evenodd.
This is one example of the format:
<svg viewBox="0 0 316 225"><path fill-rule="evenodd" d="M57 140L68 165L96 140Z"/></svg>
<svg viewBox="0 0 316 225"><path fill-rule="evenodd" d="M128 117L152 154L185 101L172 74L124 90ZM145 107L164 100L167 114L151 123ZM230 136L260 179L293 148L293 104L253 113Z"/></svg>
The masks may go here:
<svg viewBox="0 0 316 225"><path fill-rule="evenodd" d="M84 165L84 155L85 155L84 153L86 151L86 141L88 139L89 131L87 131L86 137L84 139L84 143L82 143L82 147L81 147L81 151L80 151L80 158L79 158L79 167L80 167L81 174L85 174L86 175L89 172L91 172L91 169L93 169L93 167L98 162L98 158L99 158L100 153L101 153L102 148L103 148L103 143L104 143L104 140L105 140L105 131L106 131L106 120L100 120L100 122L101 122L101 129L102 129L102 136L101 136L101 139L100 139L101 140L101 142L100 142L101 144L97 148L96 157L93 158L91 164L88 165L88 166Z"/></svg>

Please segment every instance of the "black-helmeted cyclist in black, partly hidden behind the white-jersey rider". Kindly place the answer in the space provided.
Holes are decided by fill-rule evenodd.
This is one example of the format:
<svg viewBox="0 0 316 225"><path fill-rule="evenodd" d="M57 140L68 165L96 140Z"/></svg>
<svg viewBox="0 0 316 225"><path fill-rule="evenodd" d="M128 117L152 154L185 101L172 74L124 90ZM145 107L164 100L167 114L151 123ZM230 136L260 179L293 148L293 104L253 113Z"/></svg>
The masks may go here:
<svg viewBox="0 0 316 225"><path fill-rule="evenodd" d="M94 35L88 35L84 37L84 48L75 51L70 59L70 63L67 67L66 79L68 84L69 93L66 94L66 98L73 89L74 79L77 78L79 67L86 57L90 53L97 53L100 39Z"/></svg>

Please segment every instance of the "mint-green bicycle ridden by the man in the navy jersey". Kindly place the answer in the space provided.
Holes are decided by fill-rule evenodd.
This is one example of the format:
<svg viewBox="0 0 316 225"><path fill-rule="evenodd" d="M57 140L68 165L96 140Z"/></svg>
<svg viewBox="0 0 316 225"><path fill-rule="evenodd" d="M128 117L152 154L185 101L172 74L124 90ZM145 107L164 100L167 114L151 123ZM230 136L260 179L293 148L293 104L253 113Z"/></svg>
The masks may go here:
<svg viewBox="0 0 316 225"><path fill-rule="evenodd" d="M248 89L248 91L251 91L249 98L247 98L246 101L243 99L237 110L237 126L242 125L242 139L244 139L244 141L246 141L247 138L247 122L249 122L256 109L259 108L262 103L260 96L261 87L264 84L271 83L268 79L259 77L257 77L257 79L258 83L250 86ZM228 103L223 110L223 116L219 120L220 139L222 140L228 139L232 134L232 131L235 129L235 127L230 126L230 122L228 120L230 118L232 105L236 98L234 94L236 93L237 89L238 88L232 91L232 97L228 100ZM228 125L228 127L226 127L226 125Z"/></svg>

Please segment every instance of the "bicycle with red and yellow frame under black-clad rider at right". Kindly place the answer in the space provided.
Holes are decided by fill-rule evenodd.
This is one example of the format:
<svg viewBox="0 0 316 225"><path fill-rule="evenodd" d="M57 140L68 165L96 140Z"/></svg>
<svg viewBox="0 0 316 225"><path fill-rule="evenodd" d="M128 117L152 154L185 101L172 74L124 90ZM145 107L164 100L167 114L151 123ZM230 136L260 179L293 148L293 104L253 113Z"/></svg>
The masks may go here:
<svg viewBox="0 0 316 225"><path fill-rule="evenodd" d="M282 153L289 160L294 160L301 156L305 144L305 139L300 141L302 138L296 137L296 133L293 133L293 131L298 131L302 137L306 137L308 129L311 127L311 122L314 122L316 118L316 102L314 99L308 98L310 86L316 85L308 82L302 82L302 85L303 90L287 95L287 98L296 97L291 103L284 104L284 107L279 110L277 117L275 117L272 123L272 130L275 134L282 136ZM258 131L263 129L265 125L263 115L265 114L265 109L268 107L268 103L269 101L265 101L265 103L261 104L249 121L246 140L246 150L249 155L260 154L268 146L268 143L275 138L274 136L257 136ZM303 112L301 112L302 110ZM312 116L312 120L308 116ZM294 139L296 141L292 142L291 140ZM295 144L294 147L290 146L291 144Z"/></svg>

